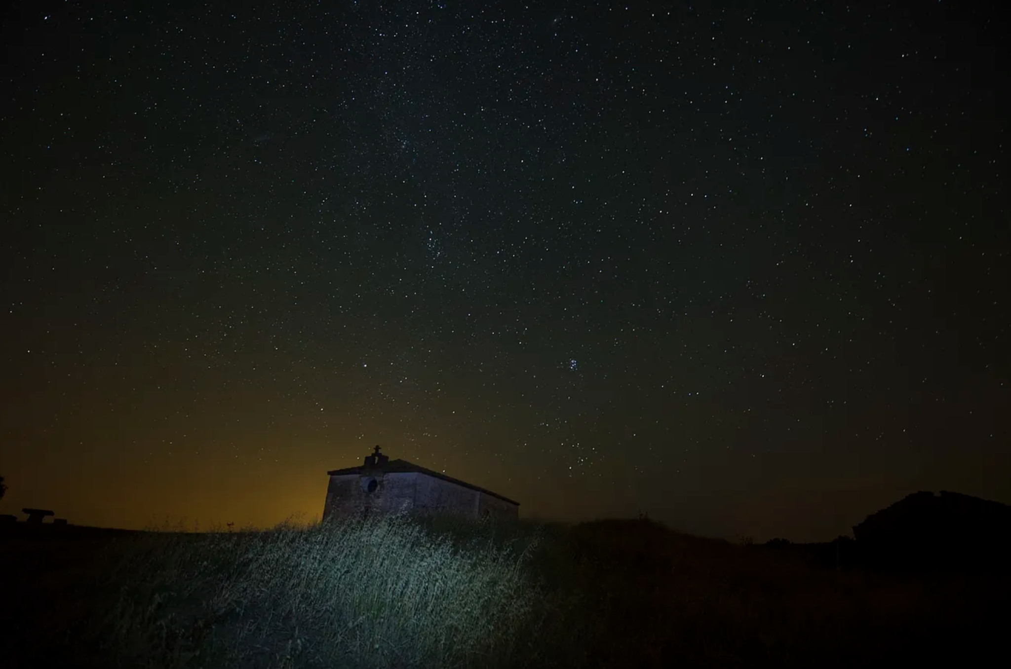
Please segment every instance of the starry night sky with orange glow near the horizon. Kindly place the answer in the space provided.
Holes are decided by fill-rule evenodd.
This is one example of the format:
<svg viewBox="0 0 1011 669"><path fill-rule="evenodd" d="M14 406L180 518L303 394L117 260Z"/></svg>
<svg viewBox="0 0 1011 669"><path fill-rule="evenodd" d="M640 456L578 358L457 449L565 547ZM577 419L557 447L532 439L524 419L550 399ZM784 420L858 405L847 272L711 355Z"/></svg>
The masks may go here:
<svg viewBox="0 0 1011 669"><path fill-rule="evenodd" d="M375 444L730 539L1011 502L997 4L4 11L0 512L311 518Z"/></svg>

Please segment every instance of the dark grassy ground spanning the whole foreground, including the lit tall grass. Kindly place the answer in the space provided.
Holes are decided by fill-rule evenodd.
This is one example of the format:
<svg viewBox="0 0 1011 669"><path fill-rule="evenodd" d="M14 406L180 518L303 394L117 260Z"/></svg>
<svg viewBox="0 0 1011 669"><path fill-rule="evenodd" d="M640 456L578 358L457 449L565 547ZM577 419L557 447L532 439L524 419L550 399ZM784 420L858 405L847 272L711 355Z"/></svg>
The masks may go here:
<svg viewBox="0 0 1011 669"><path fill-rule="evenodd" d="M1003 569L641 520L53 530L0 532L4 667L982 666L1011 620Z"/></svg>

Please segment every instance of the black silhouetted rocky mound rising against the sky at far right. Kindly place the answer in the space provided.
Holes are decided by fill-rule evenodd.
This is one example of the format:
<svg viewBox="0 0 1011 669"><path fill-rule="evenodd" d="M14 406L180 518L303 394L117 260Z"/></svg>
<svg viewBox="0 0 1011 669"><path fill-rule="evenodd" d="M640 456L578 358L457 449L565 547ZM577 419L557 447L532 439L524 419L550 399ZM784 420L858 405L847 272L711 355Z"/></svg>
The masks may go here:
<svg viewBox="0 0 1011 669"><path fill-rule="evenodd" d="M942 490L917 492L853 527L861 558L897 569L988 568L1011 555L1011 506Z"/></svg>

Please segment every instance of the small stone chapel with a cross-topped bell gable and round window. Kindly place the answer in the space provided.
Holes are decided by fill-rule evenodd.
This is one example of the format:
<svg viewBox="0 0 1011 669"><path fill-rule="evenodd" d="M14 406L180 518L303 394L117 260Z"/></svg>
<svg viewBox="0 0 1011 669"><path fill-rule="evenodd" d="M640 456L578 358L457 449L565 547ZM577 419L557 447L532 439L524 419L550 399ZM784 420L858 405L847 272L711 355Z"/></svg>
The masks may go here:
<svg viewBox="0 0 1011 669"><path fill-rule="evenodd" d="M324 519L401 510L475 518L519 516L520 502L406 460L390 460L378 446L360 467L327 474Z"/></svg>

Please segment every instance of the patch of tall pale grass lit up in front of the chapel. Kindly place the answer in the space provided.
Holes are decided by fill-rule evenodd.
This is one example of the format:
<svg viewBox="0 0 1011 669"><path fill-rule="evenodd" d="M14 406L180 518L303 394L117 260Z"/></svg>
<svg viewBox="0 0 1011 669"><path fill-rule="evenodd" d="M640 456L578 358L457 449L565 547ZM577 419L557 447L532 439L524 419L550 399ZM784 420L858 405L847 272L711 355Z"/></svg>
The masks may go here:
<svg viewBox="0 0 1011 669"><path fill-rule="evenodd" d="M406 516L134 540L93 629L146 667L509 664L536 587L491 529L459 538Z"/></svg>

